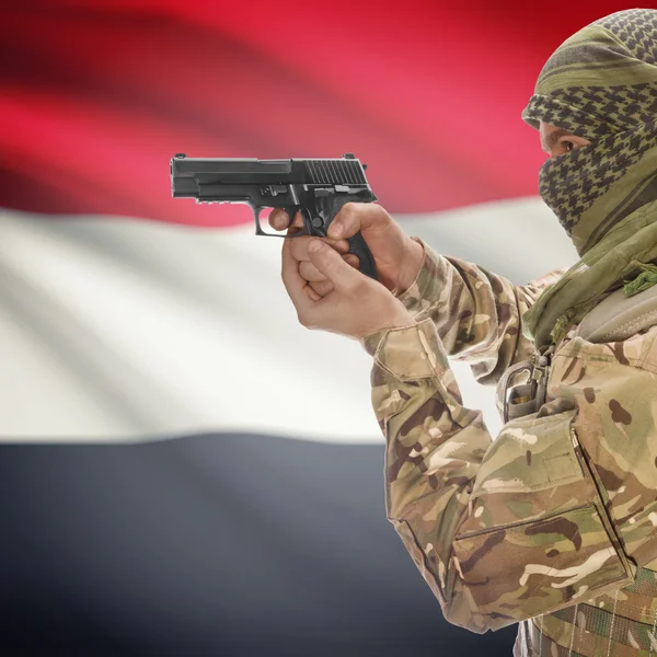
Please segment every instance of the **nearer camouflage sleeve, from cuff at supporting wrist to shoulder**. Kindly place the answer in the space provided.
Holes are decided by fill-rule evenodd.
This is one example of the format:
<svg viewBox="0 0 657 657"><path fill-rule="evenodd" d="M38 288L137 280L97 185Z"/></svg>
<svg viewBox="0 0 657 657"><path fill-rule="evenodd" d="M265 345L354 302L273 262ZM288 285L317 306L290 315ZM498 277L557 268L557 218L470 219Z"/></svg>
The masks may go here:
<svg viewBox="0 0 657 657"><path fill-rule="evenodd" d="M570 430L576 411L512 420L492 441L429 319L364 346L387 515L447 620L482 633L632 580Z"/></svg>

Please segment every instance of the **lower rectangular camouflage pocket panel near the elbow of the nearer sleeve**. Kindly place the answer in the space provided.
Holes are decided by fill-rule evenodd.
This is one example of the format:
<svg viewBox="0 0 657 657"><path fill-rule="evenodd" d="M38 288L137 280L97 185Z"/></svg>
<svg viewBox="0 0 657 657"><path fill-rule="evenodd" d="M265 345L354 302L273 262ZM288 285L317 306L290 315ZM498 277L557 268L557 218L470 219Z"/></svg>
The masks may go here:
<svg viewBox="0 0 657 657"><path fill-rule="evenodd" d="M592 503L470 532L453 548L473 611L493 630L632 581Z"/></svg>

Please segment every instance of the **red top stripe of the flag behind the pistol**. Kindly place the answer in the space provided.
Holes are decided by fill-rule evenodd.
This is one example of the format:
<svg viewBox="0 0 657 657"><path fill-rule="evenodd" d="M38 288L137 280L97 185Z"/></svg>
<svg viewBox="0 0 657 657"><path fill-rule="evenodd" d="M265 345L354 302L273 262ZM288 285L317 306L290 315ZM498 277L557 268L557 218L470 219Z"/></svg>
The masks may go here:
<svg viewBox="0 0 657 657"><path fill-rule="evenodd" d="M195 224L244 208L173 201L169 159L338 157L419 212L535 194L519 118L543 61L618 3L64 0L5 10L0 205Z"/></svg>

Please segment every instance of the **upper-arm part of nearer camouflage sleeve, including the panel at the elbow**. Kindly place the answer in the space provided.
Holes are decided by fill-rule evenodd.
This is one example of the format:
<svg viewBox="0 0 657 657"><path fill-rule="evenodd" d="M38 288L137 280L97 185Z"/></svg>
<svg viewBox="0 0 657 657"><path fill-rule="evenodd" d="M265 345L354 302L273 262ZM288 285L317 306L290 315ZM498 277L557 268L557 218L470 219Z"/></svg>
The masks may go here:
<svg viewBox="0 0 657 657"><path fill-rule="evenodd" d="M508 423L477 473L453 551L474 613L493 629L632 581L576 414Z"/></svg>

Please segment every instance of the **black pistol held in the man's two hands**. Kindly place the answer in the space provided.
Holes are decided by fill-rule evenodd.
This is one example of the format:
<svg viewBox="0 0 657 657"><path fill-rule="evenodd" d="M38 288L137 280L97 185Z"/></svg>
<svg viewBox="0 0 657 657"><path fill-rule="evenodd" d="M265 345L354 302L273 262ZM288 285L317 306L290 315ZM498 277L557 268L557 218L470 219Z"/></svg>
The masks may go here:
<svg viewBox="0 0 657 657"><path fill-rule="evenodd" d="M253 209L255 234L288 237L263 230L264 208L283 208L290 221L303 217L303 230L289 237L326 237L328 226L349 201L377 200L365 176L366 164L351 153L327 160L256 160L238 158L171 159L171 194L196 203L244 203ZM377 278L374 260L362 235L349 238L349 253L357 255L358 269Z"/></svg>

